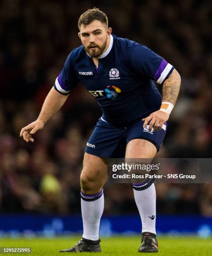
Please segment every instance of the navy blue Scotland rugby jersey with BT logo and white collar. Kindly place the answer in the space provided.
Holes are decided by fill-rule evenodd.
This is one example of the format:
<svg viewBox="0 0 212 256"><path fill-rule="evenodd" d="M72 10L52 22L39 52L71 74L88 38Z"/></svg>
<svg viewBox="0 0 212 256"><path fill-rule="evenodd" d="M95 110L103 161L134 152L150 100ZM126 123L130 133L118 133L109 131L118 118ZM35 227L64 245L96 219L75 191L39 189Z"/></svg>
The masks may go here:
<svg viewBox="0 0 212 256"><path fill-rule="evenodd" d="M162 84L174 67L146 46L110 36L108 49L95 66L83 45L74 49L55 81L55 89L69 94L82 82L102 109L102 118L125 127L160 109Z"/></svg>

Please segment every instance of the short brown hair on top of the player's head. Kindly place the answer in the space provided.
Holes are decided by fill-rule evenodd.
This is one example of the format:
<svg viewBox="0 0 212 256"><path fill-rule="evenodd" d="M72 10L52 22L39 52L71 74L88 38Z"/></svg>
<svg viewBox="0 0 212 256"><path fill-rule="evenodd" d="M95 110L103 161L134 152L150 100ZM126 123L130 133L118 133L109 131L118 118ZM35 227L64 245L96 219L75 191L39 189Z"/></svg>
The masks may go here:
<svg viewBox="0 0 212 256"><path fill-rule="evenodd" d="M94 7L93 9L88 9L85 13L82 13L78 20L79 29L81 25L85 28L94 20L99 20L100 22L105 23L108 27L107 15L100 11L99 8Z"/></svg>

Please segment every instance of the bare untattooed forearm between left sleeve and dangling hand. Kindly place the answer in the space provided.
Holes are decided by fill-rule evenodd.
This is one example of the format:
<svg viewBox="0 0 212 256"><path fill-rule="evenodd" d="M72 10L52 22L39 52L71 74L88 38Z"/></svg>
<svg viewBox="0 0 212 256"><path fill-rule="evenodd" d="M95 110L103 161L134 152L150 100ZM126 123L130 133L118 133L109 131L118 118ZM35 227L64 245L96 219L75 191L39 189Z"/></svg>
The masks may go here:
<svg viewBox="0 0 212 256"><path fill-rule="evenodd" d="M45 98L37 120L40 120L45 124L55 113L57 113L58 110L60 110L60 108L62 108L67 97L68 95L62 95L52 87Z"/></svg>

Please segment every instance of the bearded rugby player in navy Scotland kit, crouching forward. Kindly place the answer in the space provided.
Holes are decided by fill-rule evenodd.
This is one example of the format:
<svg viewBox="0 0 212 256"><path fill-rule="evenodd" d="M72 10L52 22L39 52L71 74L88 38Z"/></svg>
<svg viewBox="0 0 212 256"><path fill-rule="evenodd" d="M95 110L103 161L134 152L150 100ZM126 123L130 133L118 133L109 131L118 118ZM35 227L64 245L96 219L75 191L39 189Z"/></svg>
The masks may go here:
<svg viewBox="0 0 212 256"><path fill-rule="evenodd" d="M75 246L61 252L99 252L107 159L155 157L177 100L180 75L147 47L112 35L107 16L97 8L83 13L78 26L82 45L69 54L40 115L20 136L33 142L32 134L62 107L79 82L97 99L103 114L87 142L80 176L84 231ZM162 97L153 80L162 84ZM138 251L157 252L153 180L133 183L133 191L142 220Z"/></svg>

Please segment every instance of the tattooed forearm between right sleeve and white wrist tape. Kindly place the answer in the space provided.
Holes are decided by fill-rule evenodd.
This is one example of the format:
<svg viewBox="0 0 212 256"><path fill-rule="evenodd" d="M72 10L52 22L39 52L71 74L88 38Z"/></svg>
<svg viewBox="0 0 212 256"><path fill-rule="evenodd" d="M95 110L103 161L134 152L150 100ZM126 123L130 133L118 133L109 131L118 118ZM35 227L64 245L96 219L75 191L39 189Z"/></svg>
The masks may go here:
<svg viewBox="0 0 212 256"><path fill-rule="evenodd" d="M175 105L179 91L180 91L181 78L176 69L165 80L162 88L162 102L171 102Z"/></svg>

